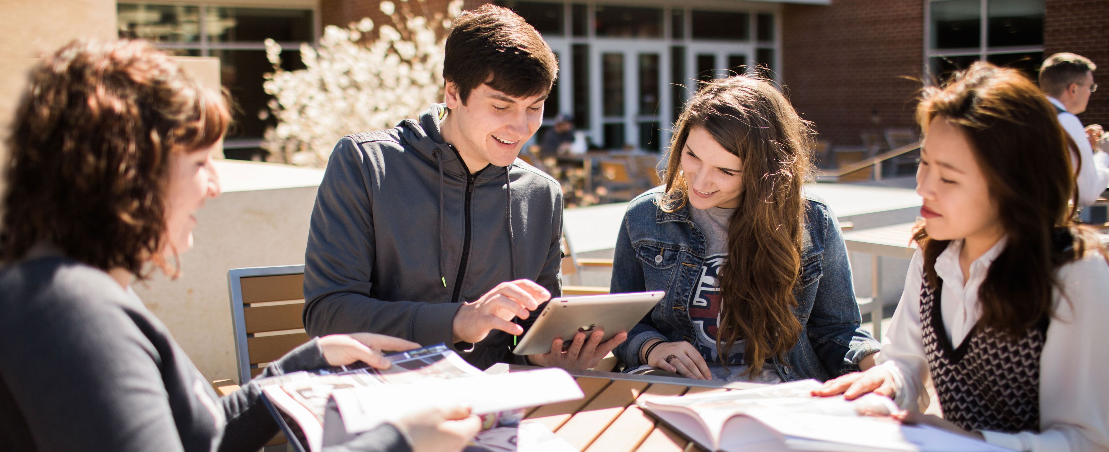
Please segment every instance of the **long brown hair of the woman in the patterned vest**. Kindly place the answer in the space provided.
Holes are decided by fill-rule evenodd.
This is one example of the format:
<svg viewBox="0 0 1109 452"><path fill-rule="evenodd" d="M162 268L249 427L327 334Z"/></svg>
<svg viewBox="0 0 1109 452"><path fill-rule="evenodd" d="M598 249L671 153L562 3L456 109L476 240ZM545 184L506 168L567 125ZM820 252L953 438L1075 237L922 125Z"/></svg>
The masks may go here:
<svg viewBox="0 0 1109 452"><path fill-rule="evenodd" d="M936 117L963 131L986 177L1007 236L978 289L979 328L1021 337L1054 314L1056 271L1089 250L1105 255L1093 230L1076 225L1072 141L1055 107L1019 71L978 62L943 86L925 88L917 122L925 134ZM924 253L928 284L938 287L936 258L950 240L914 239Z"/></svg>

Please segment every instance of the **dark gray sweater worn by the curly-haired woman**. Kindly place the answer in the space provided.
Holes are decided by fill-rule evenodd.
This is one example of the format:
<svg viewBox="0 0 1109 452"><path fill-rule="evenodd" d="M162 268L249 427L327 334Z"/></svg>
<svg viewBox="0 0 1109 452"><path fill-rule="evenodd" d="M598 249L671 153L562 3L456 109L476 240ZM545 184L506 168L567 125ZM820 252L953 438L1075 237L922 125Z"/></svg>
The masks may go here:
<svg viewBox="0 0 1109 452"><path fill-rule="evenodd" d="M277 432L256 384L216 397L104 271L63 257L10 265L0 312L0 450L253 452ZM326 366L313 340L263 376ZM330 451L408 450L386 424Z"/></svg>

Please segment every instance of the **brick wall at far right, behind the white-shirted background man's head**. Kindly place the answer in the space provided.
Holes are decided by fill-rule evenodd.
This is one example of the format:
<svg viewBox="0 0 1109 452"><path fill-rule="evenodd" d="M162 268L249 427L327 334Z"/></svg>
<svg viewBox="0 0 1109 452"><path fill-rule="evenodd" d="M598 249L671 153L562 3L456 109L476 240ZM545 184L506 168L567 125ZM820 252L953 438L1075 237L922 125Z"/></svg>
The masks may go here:
<svg viewBox="0 0 1109 452"><path fill-rule="evenodd" d="M1093 81L1101 88L1090 95L1083 124L1109 124L1109 1L1045 0L1044 56L1072 52L1093 60Z"/></svg>

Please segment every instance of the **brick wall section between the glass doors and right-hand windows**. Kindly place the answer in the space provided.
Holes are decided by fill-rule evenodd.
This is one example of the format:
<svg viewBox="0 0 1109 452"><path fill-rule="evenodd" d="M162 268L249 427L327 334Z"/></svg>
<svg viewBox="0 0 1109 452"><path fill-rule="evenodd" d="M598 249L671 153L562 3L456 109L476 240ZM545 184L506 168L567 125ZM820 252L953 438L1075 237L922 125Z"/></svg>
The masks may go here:
<svg viewBox="0 0 1109 452"><path fill-rule="evenodd" d="M833 0L782 8L782 81L803 117L833 145L859 132L915 127L923 71L922 0ZM876 112L876 113L875 113Z"/></svg>

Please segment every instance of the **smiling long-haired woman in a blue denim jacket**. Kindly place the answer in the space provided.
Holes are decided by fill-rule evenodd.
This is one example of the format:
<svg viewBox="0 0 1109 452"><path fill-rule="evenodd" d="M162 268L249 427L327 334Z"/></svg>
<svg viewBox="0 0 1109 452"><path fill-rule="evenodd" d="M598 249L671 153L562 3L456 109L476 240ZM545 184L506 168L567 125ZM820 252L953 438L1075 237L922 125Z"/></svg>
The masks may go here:
<svg viewBox="0 0 1109 452"><path fill-rule="evenodd" d="M840 226L802 193L810 134L759 79L689 101L667 184L631 202L617 240L612 292L667 292L614 351L628 371L781 382L873 366Z"/></svg>

